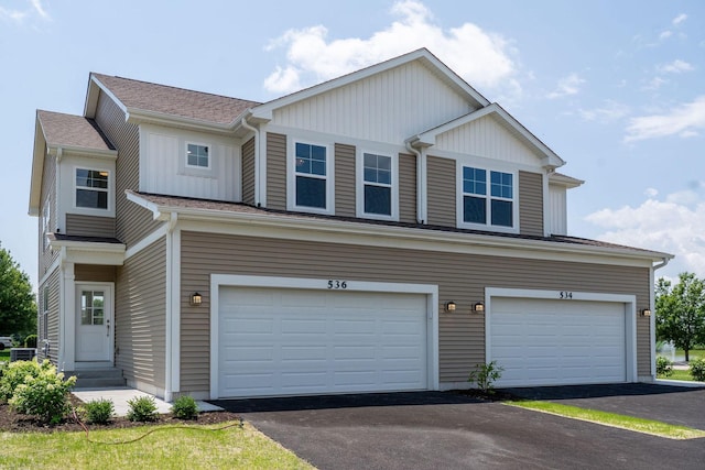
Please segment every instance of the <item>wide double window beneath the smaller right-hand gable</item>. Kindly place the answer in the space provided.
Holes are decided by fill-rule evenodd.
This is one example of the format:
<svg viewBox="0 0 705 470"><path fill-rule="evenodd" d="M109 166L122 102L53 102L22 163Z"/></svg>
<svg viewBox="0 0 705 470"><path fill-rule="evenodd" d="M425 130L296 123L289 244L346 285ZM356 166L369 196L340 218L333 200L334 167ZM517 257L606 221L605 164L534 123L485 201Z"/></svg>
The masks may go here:
<svg viewBox="0 0 705 470"><path fill-rule="evenodd" d="M511 173L464 166L462 222L514 228L513 179Z"/></svg>

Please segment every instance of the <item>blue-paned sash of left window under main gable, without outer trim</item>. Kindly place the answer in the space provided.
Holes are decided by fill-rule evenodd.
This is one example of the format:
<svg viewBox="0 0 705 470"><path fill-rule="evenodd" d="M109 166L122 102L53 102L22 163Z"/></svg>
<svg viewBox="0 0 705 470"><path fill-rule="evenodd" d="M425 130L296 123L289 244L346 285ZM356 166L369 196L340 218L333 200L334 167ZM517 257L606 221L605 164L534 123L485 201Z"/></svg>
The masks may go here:
<svg viewBox="0 0 705 470"><path fill-rule="evenodd" d="M296 207L325 210L328 207L326 147L296 142L294 153Z"/></svg>

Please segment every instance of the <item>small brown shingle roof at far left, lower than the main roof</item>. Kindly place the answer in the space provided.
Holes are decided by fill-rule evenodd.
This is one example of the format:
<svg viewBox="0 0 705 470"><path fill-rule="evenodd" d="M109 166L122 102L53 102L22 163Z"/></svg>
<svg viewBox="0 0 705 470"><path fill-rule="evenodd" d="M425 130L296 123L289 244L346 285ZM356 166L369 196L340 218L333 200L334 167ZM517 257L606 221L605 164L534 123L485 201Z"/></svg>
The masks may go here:
<svg viewBox="0 0 705 470"><path fill-rule="evenodd" d="M115 150L93 119L52 111L36 111L36 118L50 146Z"/></svg>

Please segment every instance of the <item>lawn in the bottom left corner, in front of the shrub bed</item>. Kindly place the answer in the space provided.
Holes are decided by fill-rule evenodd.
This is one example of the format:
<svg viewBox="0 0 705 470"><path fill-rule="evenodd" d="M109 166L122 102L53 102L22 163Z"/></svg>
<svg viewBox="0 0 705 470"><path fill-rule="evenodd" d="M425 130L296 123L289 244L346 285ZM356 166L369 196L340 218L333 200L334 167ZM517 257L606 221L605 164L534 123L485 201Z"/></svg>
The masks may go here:
<svg viewBox="0 0 705 470"><path fill-rule="evenodd" d="M248 424L144 426L90 433L1 433L0 468L313 469ZM147 435L152 429L156 431ZM147 436L145 436L147 435ZM134 442L119 444L142 437ZM110 444L117 442L117 444Z"/></svg>

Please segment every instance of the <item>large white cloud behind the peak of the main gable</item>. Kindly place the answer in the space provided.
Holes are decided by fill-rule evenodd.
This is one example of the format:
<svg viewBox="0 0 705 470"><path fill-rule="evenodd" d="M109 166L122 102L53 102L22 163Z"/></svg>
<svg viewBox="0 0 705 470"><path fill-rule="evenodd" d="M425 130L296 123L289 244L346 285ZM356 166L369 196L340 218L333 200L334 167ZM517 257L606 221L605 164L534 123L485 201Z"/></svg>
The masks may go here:
<svg viewBox="0 0 705 470"><path fill-rule="evenodd" d="M285 48L286 64L267 77L264 88L278 94L295 91L426 47L470 85L516 92L513 51L502 36L473 23L443 30L433 22L432 12L414 0L395 2L391 13L398 20L367 39L328 40L324 25L284 32L265 50Z"/></svg>

